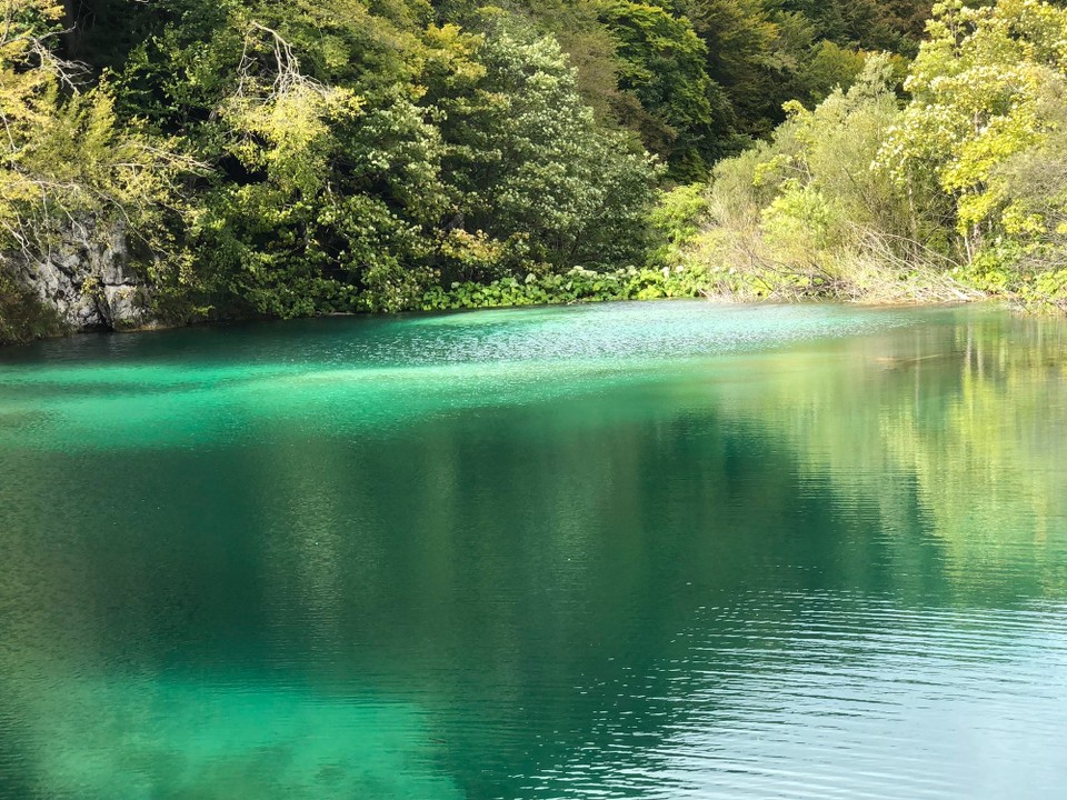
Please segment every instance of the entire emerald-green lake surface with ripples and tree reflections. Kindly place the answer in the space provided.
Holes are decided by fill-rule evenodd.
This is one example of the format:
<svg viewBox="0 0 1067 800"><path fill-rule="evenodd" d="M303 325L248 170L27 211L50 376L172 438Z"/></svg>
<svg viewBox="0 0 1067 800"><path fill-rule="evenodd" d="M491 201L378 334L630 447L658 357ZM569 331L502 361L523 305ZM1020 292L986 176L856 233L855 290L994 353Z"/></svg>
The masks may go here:
<svg viewBox="0 0 1067 800"><path fill-rule="evenodd" d="M6 351L0 797L1067 797L1067 323Z"/></svg>

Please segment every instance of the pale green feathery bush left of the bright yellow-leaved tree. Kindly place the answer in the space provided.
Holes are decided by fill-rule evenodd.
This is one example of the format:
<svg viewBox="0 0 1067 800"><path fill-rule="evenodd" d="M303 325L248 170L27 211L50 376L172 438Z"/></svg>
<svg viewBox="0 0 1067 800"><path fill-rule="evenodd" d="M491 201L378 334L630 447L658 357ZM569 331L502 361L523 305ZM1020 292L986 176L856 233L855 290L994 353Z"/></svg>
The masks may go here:
<svg viewBox="0 0 1067 800"><path fill-rule="evenodd" d="M700 258L742 296L856 297L861 282L894 280L876 279L866 257L871 237L895 254L918 226L914 204L871 168L899 114L891 60L870 57L847 92L787 111L771 143L716 168Z"/></svg>

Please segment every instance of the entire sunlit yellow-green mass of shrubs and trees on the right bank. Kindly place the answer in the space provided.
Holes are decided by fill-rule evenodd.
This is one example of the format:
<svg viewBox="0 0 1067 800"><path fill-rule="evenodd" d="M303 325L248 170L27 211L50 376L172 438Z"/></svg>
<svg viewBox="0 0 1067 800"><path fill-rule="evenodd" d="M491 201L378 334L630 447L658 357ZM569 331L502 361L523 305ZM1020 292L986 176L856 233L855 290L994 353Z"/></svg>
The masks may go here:
<svg viewBox="0 0 1067 800"><path fill-rule="evenodd" d="M934 8L899 103L871 56L769 146L717 167L704 258L786 293L1067 306L1067 10Z"/></svg>

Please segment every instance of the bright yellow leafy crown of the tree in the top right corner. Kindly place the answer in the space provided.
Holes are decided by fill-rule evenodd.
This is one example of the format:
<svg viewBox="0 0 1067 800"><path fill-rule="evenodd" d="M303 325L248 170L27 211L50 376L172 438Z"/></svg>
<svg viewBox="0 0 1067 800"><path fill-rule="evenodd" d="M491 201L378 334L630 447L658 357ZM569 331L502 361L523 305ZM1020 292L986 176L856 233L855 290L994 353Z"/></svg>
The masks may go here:
<svg viewBox="0 0 1067 800"><path fill-rule="evenodd" d="M905 83L913 100L878 160L901 186L936 180L976 246L986 223L1008 233L1027 224L997 169L1053 129L1047 106L1061 102L1067 11L1036 0L950 0L934 14Z"/></svg>

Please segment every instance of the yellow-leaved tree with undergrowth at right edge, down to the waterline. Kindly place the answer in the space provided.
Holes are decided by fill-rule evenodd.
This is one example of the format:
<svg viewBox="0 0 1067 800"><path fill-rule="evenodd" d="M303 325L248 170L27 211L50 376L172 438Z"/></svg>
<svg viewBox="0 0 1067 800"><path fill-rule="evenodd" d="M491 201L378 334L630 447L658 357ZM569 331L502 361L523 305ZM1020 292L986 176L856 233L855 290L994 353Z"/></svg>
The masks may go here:
<svg viewBox="0 0 1067 800"><path fill-rule="evenodd" d="M936 184L950 200L958 274L1030 306L1067 306L1067 10L946 2L929 32L879 164L901 191Z"/></svg>

